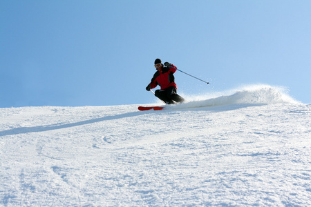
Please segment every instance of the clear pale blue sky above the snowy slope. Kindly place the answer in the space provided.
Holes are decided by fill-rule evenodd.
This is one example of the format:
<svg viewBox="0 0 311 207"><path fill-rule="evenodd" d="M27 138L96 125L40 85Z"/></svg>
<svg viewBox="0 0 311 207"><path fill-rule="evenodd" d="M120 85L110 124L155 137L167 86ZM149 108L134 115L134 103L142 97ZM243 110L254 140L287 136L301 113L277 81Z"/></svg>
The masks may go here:
<svg viewBox="0 0 311 207"><path fill-rule="evenodd" d="M152 103L264 83L311 103L311 1L1 1L0 108Z"/></svg>

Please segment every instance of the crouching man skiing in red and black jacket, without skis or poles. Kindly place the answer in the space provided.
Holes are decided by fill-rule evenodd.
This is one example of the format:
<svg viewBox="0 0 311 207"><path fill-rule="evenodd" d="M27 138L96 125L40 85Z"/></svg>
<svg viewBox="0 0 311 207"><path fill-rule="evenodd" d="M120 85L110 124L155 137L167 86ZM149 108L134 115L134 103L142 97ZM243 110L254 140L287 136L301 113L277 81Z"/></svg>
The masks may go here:
<svg viewBox="0 0 311 207"><path fill-rule="evenodd" d="M164 103L174 104L184 102L185 99L177 94L177 85L175 83L175 77L173 76L173 73L177 70L176 66L168 62L165 62L163 66L160 59L154 61L154 66L158 71L153 75L146 90L149 91L159 85L160 90L156 90L155 95L164 101Z"/></svg>

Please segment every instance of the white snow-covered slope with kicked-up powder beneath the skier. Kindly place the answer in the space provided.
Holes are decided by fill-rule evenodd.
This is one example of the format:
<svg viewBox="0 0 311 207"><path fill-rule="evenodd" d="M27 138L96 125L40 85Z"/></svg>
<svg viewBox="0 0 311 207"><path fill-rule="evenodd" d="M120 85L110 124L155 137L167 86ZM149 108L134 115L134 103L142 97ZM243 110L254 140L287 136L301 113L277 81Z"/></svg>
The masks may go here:
<svg viewBox="0 0 311 207"><path fill-rule="evenodd" d="M311 206L310 104L272 86L187 99L0 108L0 205Z"/></svg>

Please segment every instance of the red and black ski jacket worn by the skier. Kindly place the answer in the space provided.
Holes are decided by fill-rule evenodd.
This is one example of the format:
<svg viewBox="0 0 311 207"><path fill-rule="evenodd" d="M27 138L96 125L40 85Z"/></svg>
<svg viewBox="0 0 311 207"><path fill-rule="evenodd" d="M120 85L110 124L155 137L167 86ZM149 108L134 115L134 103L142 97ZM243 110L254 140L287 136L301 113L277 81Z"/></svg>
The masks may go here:
<svg viewBox="0 0 311 207"><path fill-rule="evenodd" d="M171 64L168 67L162 68L162 70L157 71L154 75L153 78L151 79L151 83L149 85L152 88L156 88L158 85L162 89L169 88L171 86L177 88L177 85L175 83L175 77L173 76L173 73L176 72L177 68L173 64Z"/></svg>

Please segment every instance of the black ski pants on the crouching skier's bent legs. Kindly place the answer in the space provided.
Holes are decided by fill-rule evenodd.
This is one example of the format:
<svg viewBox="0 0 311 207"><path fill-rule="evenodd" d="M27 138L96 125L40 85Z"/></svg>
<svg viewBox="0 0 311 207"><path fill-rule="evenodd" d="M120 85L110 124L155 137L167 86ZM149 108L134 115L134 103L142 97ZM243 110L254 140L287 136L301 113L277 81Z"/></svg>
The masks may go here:
<svg viewBox="0 0 311 207"><path fill-rule="evenodd" d="M155 95L167 104L174 104L175 102L182 103L185 101L185 99L177 94L177 89L173 86L163 90L156 90Z"/></svg>

